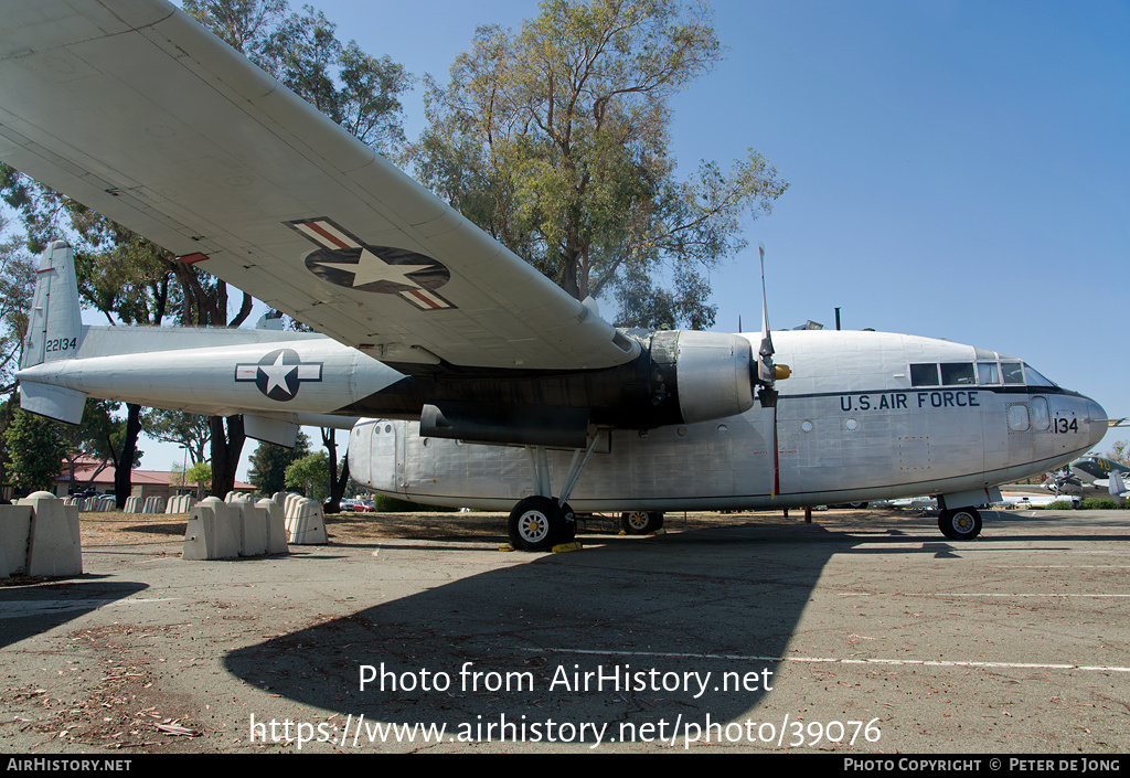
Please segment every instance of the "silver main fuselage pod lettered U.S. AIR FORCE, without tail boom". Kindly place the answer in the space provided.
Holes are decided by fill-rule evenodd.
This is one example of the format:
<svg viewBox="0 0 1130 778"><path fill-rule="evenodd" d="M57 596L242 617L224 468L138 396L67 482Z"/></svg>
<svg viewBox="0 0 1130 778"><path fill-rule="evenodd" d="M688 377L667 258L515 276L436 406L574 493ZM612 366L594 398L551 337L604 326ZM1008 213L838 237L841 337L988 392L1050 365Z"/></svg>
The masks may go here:
<svg viewBox="0 0 1130 778"><path fill-rule="evenodd" d="M1063 466L1106 430L1097 403L993 352L870 331L780 331L773 340L777 362L792 368L777 383L775 458L773 412L759 405L712 422L603 431L573 509L751 509L970 492ZM377 492L443 505L508 510L534 493L523 448L418 430L400 420L359 422L350 473ZM548 452L554 489L573 456Z"/></svg>

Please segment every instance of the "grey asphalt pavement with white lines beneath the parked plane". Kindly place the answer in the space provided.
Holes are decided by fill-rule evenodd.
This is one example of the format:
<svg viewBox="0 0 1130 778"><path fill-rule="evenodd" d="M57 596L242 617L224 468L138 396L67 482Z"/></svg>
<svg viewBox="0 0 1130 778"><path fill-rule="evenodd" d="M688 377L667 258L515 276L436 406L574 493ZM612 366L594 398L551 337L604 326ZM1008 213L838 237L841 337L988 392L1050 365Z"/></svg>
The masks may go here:
<svg viewBox="0 0 1130 778"><path fill-rule="evenodd" d="M0 750L1130 751L1130 511L986 512L967 543L669 515L557 554L458 520L215 562L183 522L84 539L81 578L0 588Z"/></svg>

